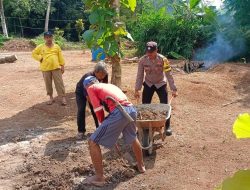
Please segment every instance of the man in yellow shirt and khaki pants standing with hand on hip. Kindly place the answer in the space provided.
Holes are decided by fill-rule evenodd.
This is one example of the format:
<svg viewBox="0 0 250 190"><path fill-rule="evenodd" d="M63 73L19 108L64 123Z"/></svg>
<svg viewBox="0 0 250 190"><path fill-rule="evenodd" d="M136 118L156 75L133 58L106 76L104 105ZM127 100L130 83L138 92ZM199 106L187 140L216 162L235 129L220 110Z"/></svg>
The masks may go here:
<svg viewBox="0 0 250 190"><path fill-rule="evenodd" d="M62 105L66 105L65 87L63 84L62 74L64 73L64 58L61 48L53 43L53 33L48 31L44 33L45 43L37 46L32 51L32 57L40 62L40 70L50 97L48 105L53 104L53 87L52 80L56 87L58 96L62 98Z"/></svg>

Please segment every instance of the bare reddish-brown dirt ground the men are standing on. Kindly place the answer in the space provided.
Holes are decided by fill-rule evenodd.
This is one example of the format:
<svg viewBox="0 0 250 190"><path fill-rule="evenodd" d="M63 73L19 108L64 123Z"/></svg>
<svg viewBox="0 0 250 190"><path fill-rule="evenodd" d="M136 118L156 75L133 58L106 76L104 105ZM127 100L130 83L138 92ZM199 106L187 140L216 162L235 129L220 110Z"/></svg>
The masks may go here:
<svg viewBox="0 0 250 190"><path fill-rule="evenodd" d="M208 190L236 171L250 169L250 140L237 140L232 134L237 115L250 112L249 66L221 64L206 72L176 72L179 97L172 102L173 135L164 142L156 140L154 154L144 157L145 174L114 150L103 149L107 185L97 188L82 184L93 174L87 137L75 140L74 90L94 65L90 52L64 52L66 107L58 100L46 105L38 63L30 52L16 54L16 63L0 65L1 190ZM134 103L136 67L122 66L123 89ZM91 115L87 125L87 132L93 133ZM122 141L119 144L123 153L131 152Z"/></svg>

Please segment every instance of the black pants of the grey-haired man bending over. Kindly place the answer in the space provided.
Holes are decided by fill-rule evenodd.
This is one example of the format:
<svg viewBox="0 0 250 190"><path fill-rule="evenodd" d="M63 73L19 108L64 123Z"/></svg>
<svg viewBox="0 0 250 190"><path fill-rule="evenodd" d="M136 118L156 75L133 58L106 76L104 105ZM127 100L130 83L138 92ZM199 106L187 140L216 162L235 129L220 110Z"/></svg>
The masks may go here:
<svg viewBox="0 0 250 190"><path fill-rule="evenodd" d="M85 111L86 111L86 104L87 104L87 99L85 96L80 96L76 94L76 103L77 103L77 126L78 126L78 132L80 133L85 133L86 132L86 123L85 123ZM95 112L93 110L93 107L91 104L89 104L92 116L95 120L95 126L96 128L99 126L98 119L95 115Z"/></svg>

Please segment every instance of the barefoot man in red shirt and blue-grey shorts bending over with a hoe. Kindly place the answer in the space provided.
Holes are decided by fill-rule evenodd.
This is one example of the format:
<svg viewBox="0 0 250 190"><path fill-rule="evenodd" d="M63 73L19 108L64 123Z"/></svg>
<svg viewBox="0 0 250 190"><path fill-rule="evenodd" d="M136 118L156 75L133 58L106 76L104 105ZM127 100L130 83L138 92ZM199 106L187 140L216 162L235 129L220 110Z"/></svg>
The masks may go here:
<svg viewBox="0 0 250 190"><path fill-rule="evenodd" d="M128 101L120 88L113 84L99 83L94 76L85 78L83 85L87 90L96 117L100 122L99 127L89 137L89 151L95 168L95 175L88 177L84 183L96 186L105 185L100 145L109 149L113 148L121 133L125 143L132 146L139 172L144 173L146 169L143 162L142 148L136 136L135 120L137 113L133 104ZM114 104L114 101L121 105L124 112L133 121L129 121L124 116L121 110ZM109 112L107 117L104 117L103 105Z"/></svg>

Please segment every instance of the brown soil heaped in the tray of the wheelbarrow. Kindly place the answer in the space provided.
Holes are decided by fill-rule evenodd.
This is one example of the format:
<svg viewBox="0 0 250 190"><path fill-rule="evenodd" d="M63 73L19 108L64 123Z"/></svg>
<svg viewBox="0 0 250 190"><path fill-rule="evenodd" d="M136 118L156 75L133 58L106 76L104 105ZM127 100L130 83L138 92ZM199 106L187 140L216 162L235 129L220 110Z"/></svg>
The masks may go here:
<svg viewBox="0 0 250 190"><path fill-rule="evenodd" d="M167 104L141 104L136 106L137 120L163 120L167 117Z"/></svg>

